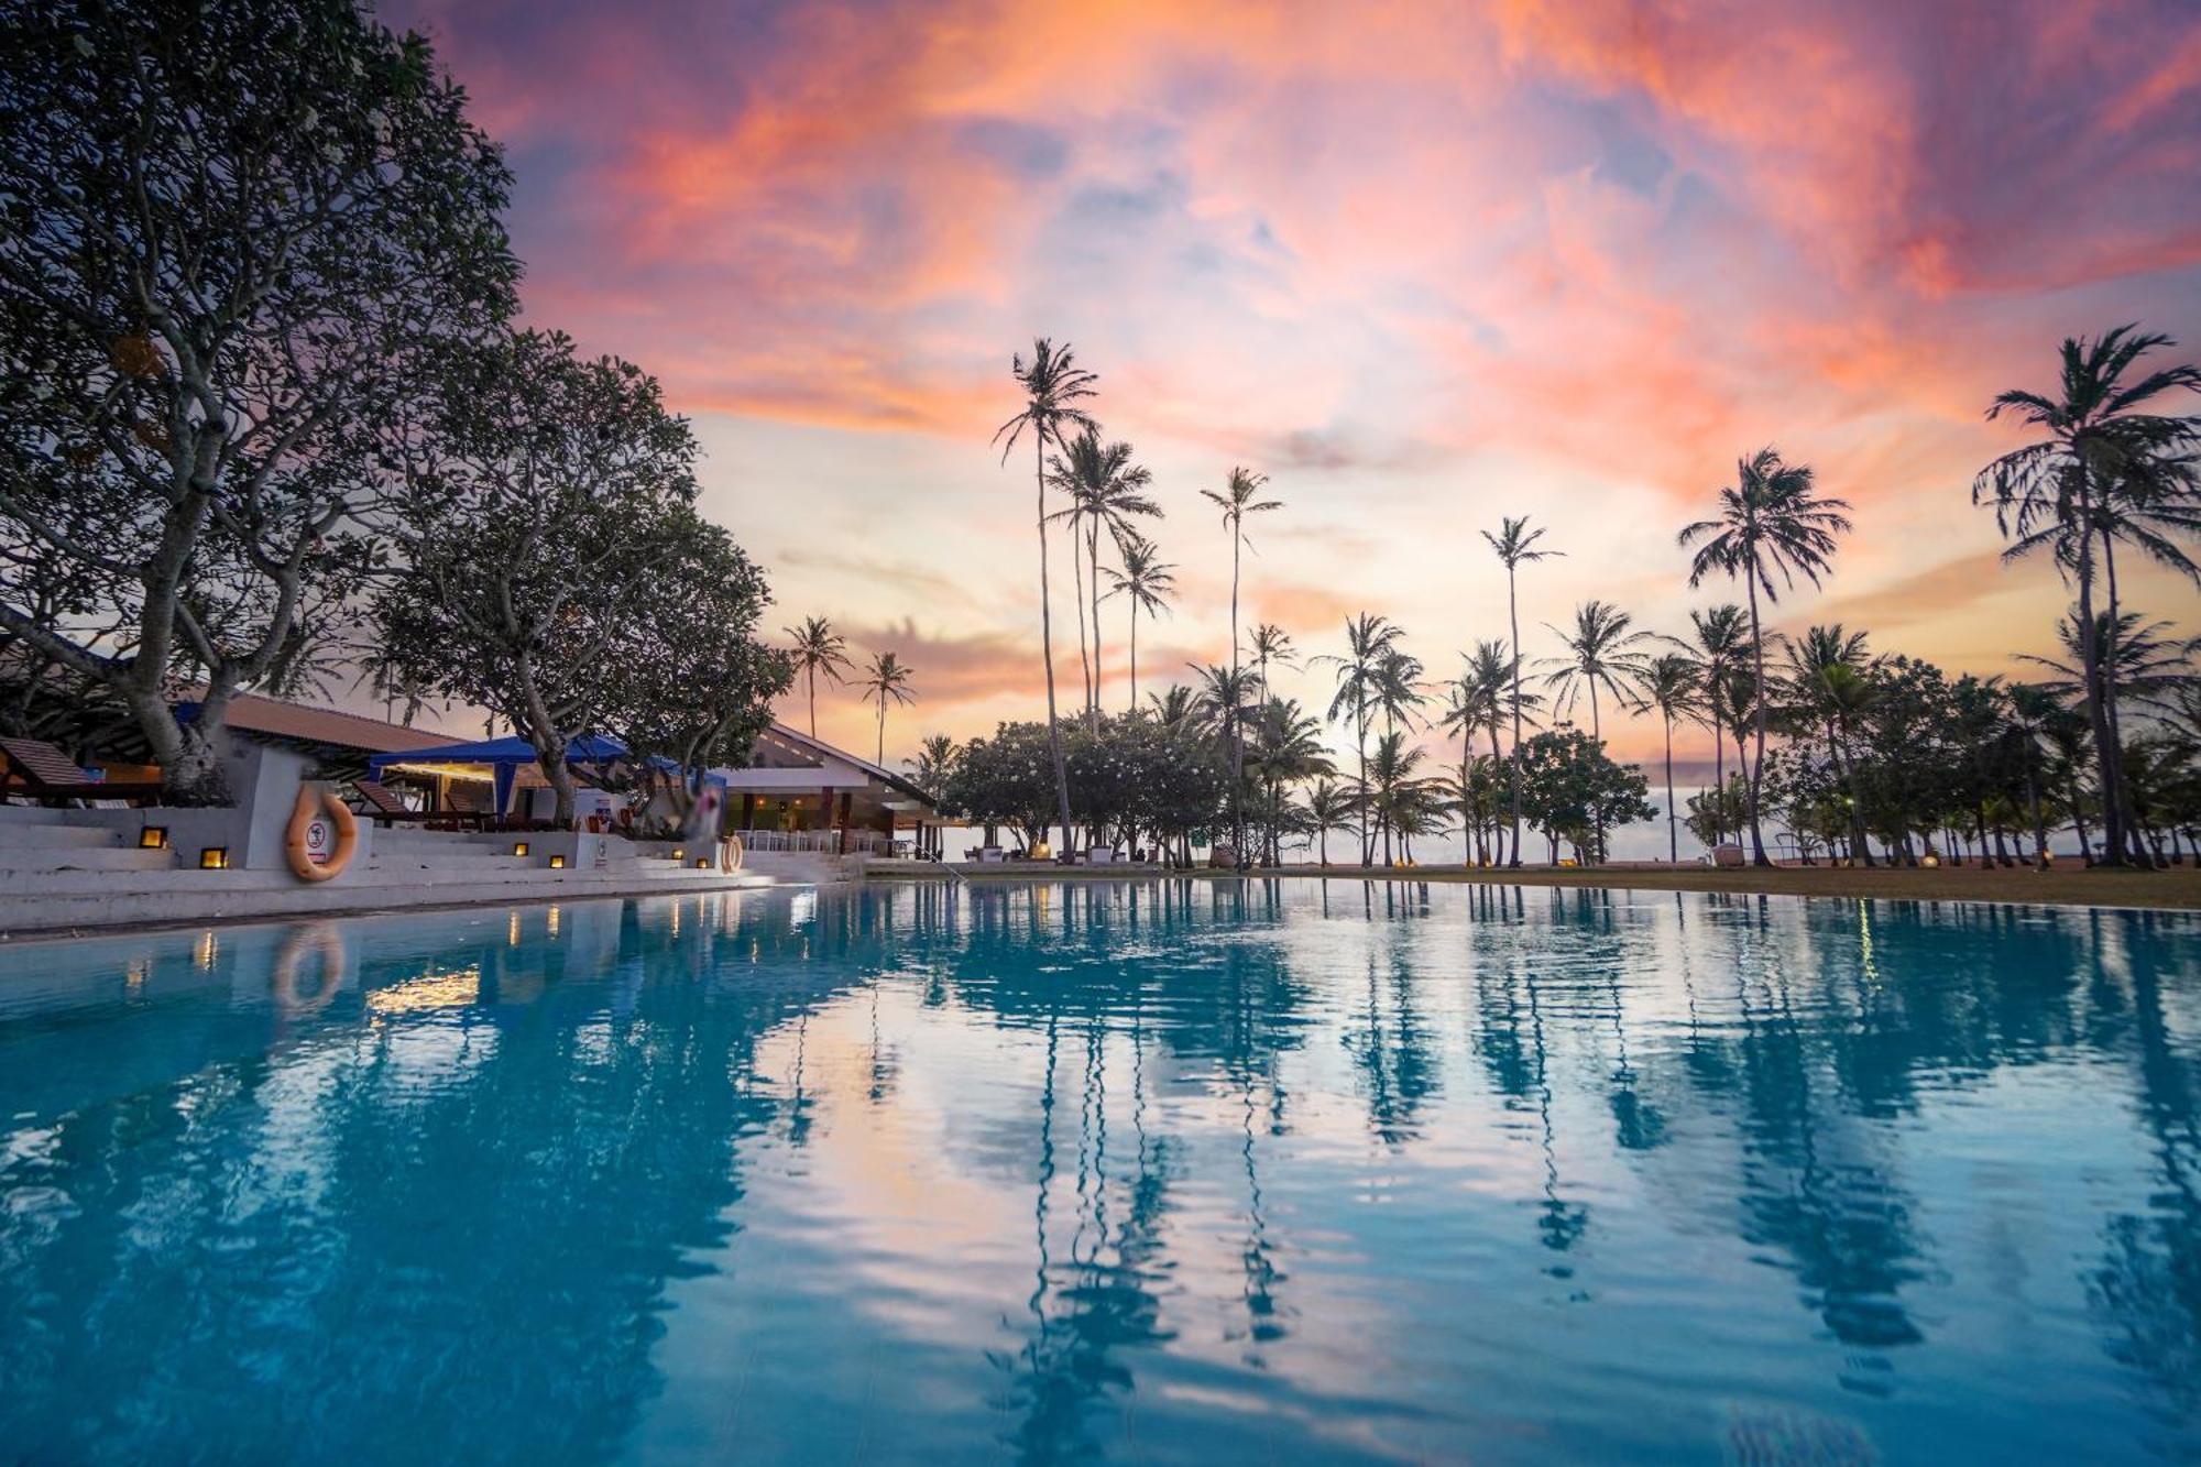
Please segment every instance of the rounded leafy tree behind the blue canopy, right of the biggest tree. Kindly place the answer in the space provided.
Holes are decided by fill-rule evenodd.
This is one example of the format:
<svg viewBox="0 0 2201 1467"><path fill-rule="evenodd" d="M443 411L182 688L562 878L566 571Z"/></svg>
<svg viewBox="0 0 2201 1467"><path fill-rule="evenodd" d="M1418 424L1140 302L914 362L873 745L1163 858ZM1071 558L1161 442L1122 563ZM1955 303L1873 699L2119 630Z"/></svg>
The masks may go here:
<svg viewBox="0 0 2201 1467"><path fill-rule="evenodd" d="M504 718L572 819L568 745L618 689L618 654L700 553L696 438L638 368L515 333L445 361L394 509L401 570L376 599L392 661Z"/></svg>

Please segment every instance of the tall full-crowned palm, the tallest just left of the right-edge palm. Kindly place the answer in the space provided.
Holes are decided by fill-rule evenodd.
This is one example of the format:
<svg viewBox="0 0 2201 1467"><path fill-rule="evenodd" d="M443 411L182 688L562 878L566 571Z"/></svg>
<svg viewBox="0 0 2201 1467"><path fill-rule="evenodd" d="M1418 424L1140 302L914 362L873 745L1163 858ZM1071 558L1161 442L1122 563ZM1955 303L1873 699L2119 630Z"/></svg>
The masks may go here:
<svg viewBox="0 0 2201 1467"><path fill-rule="evenodd" d="M1794 586L1798 575L1818 586L1831 568L1836 535L1849 533L1849 518L1842 513L1847 509L1849 500L1818 493L1809 465L1783 463L1781 454L1763 447L1750 458L1737 460L1734 485L1719 491L1719 513L1684 526L1679 535L1679 544L1697 546L1688 566L1693 590L1715 570L1739 575L1750 588L1756 727L1752 729L1754 747L1745 789L1750 793L1750 859L1754 866L1772 866L1765 855L1765 833L1759 826L1765 711L1772 703L1765 696L1765 628L1759 621L1759 595L1778 601L1781 586ZM1781 586L1774 584L1774 570L1781 573Z"/></svg>

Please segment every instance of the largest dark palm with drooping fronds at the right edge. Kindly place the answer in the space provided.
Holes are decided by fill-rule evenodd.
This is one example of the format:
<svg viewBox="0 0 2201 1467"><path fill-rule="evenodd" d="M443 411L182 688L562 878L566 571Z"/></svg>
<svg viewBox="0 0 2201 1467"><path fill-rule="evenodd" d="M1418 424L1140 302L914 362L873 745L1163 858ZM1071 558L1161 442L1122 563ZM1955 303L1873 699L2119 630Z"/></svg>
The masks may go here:
<svg viewBox="0 0 2201 1467"><path fill-rule="evenodd" d="M2102 626L2093 604L2095 540L2102 544L2100 570L2111 582L2106 628L2115 637L2115 542L2133 535L2135 515L2166 507L2192 511L2192 452L2201 441L2201 419L2137 410L2166 392L2201 390L2201 368L2157 368L2139 381L2124 379L2139 357L2164 346L2172 339L2133 324L2093 341L2065 337L2054 392L2010 390L1988 408L1988 421L2010 412L2045 436L2003 454L1972 480L1972 502L1994 504L1994 522L2012 540L2005 562L2049 546L2058 566L2078 582L2078 628L2087 634L2080 645L2082 685L2102 784L2102 859L2111 866L2131 857L2146 863L2148 857L2133 830L2131 795L2120 771L2115 689L2098 676L2113 648L2093 639ZM2183 568L2192 575L2190 564Z"/></svg>

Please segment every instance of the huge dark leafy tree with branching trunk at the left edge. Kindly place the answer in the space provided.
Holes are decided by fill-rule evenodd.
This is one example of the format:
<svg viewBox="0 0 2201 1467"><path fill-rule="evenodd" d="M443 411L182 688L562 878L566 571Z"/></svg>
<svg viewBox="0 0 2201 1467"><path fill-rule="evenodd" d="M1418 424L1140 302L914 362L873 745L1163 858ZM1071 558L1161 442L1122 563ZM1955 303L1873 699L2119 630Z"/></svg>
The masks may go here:
<svg viewBox="0 0 2201 1467"><path fill-rule="evenodd" d="M125 705L183 804L368 564L423 361L513 306L511 176L350 0L0 0L0 630ZM169 698L196 676L198 716Z"/></svg>

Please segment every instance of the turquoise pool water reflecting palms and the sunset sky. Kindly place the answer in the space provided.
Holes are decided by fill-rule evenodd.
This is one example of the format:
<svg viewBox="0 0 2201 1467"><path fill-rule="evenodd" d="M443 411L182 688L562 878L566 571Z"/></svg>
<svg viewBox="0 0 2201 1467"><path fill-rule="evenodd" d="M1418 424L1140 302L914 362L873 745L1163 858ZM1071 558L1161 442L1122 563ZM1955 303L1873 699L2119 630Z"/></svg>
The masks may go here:
<svg viewBox="0 0 2201 1467"><path fill-rule="evenodd" d="M2194 1456L2197 974L1356 883L7 947L0 1458Z"/></svg>

